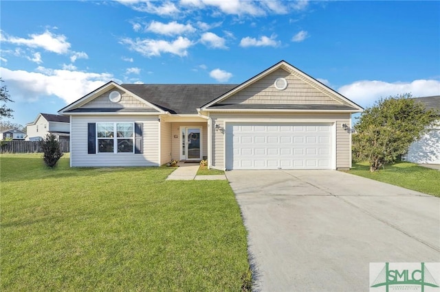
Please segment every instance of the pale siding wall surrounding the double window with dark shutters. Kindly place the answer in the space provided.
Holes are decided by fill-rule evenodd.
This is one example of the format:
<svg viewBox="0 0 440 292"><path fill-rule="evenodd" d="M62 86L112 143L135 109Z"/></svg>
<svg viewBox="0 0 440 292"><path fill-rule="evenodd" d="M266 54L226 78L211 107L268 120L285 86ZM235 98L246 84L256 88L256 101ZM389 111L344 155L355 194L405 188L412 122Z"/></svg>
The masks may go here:
<svg viewBox="0 0 440 292"><path fill-rule="evenodd" d="M159 165L159 121L158 117L72 117L71 162L72 167L123 167ZM88 123L143 123L143 154L87 154Z"/></svg>

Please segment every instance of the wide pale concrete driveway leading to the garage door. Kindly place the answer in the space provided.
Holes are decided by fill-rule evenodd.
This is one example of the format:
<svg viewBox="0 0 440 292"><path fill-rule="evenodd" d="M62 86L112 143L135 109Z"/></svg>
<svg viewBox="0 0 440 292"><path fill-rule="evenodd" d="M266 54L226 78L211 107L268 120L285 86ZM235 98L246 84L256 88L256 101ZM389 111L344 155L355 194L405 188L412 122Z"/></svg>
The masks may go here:
<svg viewBox="0 0 440 292"><path fill-rule="evenodd" d="M340 171L226 176L254 291L369 291L369 263L440 262L438 197Z"/></svg>

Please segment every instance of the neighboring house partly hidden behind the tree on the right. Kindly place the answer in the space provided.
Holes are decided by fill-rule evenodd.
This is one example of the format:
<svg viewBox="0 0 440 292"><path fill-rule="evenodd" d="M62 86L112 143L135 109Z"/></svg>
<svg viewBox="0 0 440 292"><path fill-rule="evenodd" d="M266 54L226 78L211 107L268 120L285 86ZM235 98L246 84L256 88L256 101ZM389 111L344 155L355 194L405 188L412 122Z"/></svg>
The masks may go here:
<svg viewBox="0 0 440 292"><path fill-rule="evenodd" d="M427 109L438 110L440 114L440 95L419 97L415 101L423 103ZM418 141L410 145L404 159L414 163L440 165L440 115L437 123L430 127Z"/></svg>

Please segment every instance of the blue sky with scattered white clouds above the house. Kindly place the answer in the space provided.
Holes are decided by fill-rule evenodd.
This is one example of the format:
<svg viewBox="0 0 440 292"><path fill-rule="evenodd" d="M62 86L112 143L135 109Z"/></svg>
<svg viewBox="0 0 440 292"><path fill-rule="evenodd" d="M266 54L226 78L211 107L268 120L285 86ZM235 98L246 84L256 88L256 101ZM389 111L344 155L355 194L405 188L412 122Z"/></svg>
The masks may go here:
<svg viewBox="0 0 440 292"><path fill-rule="evenodd" d="M439 1L1 1L25 125L104 83L239 84L280 60L361 106L440 95Z"/></svg>

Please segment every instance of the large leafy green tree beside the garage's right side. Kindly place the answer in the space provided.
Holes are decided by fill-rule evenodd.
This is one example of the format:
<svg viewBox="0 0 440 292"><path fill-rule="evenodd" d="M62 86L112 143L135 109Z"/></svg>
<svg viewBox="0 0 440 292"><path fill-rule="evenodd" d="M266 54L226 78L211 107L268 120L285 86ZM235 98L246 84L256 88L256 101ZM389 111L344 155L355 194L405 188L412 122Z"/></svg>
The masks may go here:
<svg viewBox="0 0 440 292"><path fill-rule="evenodd" d="M437 112L426 110L411 97L406 93L380 99L358 118L354 126L353 154L356 160L368 160L370 171L406 154L410 144L437 118Z"/></svg>

